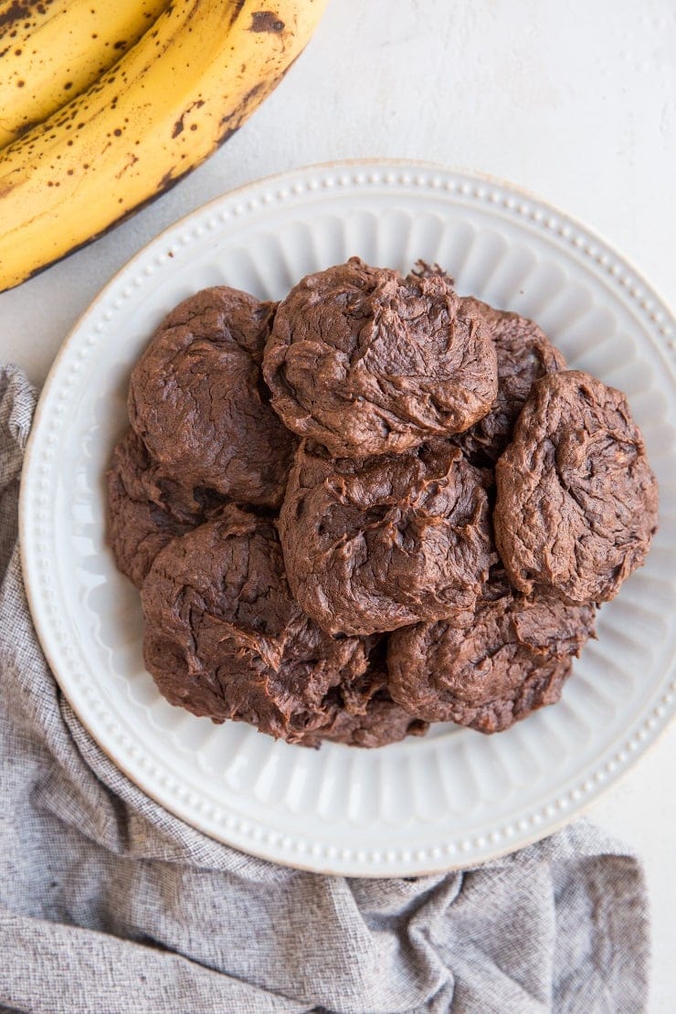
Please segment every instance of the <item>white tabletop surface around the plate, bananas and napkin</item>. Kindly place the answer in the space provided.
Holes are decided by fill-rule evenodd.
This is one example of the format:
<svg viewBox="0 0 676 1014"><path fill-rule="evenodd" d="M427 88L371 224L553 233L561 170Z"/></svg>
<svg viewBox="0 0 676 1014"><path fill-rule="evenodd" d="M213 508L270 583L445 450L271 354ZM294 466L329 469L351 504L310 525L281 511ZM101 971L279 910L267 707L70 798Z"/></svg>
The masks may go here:
<svg viewBox="0 0 676 1014"><path fill-rule="evenodd" d="M310 47L213 158L110 234L0 295L0 359L41 383L98 290L212 197L358 156L490 172L601 233L676 304L675 0L331 0ZM643 855L650 1011L676 1010L676 728L590 816Z"/></svg>

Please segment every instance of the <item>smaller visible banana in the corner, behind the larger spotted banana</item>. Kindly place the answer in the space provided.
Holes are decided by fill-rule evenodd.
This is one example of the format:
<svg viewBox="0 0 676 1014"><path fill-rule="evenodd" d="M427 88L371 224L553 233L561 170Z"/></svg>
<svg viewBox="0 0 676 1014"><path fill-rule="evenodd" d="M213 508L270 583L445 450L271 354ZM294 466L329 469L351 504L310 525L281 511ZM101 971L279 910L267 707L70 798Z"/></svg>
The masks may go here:
<svg viewBox="0 0 676 1014"><path fill-rule="evenodd" d="M0 148L100 77L169 0L0 3Z"/></svg>

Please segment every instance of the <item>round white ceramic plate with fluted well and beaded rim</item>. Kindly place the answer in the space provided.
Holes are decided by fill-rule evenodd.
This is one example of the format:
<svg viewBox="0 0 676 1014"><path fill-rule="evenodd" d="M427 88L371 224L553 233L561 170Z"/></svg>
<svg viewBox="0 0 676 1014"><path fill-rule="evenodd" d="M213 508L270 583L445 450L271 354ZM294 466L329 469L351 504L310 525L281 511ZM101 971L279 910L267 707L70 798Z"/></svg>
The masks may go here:
<svg viewBox="0 0 676 1014"><path fill-rule="evenodd" d="M438 262L462 293L534 317L572 366L628 394L661 484L648 565L603 607L559 704L493 737L454 726L379 750L274 742L166 704L139 596L104 546L102 475L129 373L164 314L209 285L279 299L353 254ZM28 596L83 724L150 796L245 852L318 871L421 874L541 838L612 783L675 709L674 320L615 252L507 186L427 165L311 167L190 215L81 318L41 399L21 495Z"/></svg>

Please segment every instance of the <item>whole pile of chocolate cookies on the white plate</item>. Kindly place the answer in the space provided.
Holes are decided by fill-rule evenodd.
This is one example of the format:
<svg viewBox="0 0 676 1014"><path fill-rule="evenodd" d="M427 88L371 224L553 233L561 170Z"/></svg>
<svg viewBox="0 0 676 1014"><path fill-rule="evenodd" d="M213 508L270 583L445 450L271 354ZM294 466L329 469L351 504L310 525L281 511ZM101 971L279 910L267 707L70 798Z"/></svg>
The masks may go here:
<svg viewBox="0 0 676 1014"><path fill-rule="evenodd" d="M624 396L440 269L206 289L130 384L108 541L172 704L289 742L481 732L555 702L644 562Z"/></svg>

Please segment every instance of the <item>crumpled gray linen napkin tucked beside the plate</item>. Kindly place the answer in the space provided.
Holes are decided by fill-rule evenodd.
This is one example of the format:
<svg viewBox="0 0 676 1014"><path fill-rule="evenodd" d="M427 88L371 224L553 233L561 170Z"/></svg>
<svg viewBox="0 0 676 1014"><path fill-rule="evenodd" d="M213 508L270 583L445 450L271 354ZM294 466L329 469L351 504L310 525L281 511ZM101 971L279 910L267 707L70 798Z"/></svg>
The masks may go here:
<svg viewBox="0 0 676 1014"><path fill-rule="evenodd" d="M579 822L412 879L300 873L206 838L78 723L17 548L34 394L0 369L0 1005L99 1014L645 1010L639 860Z"/></svg>

